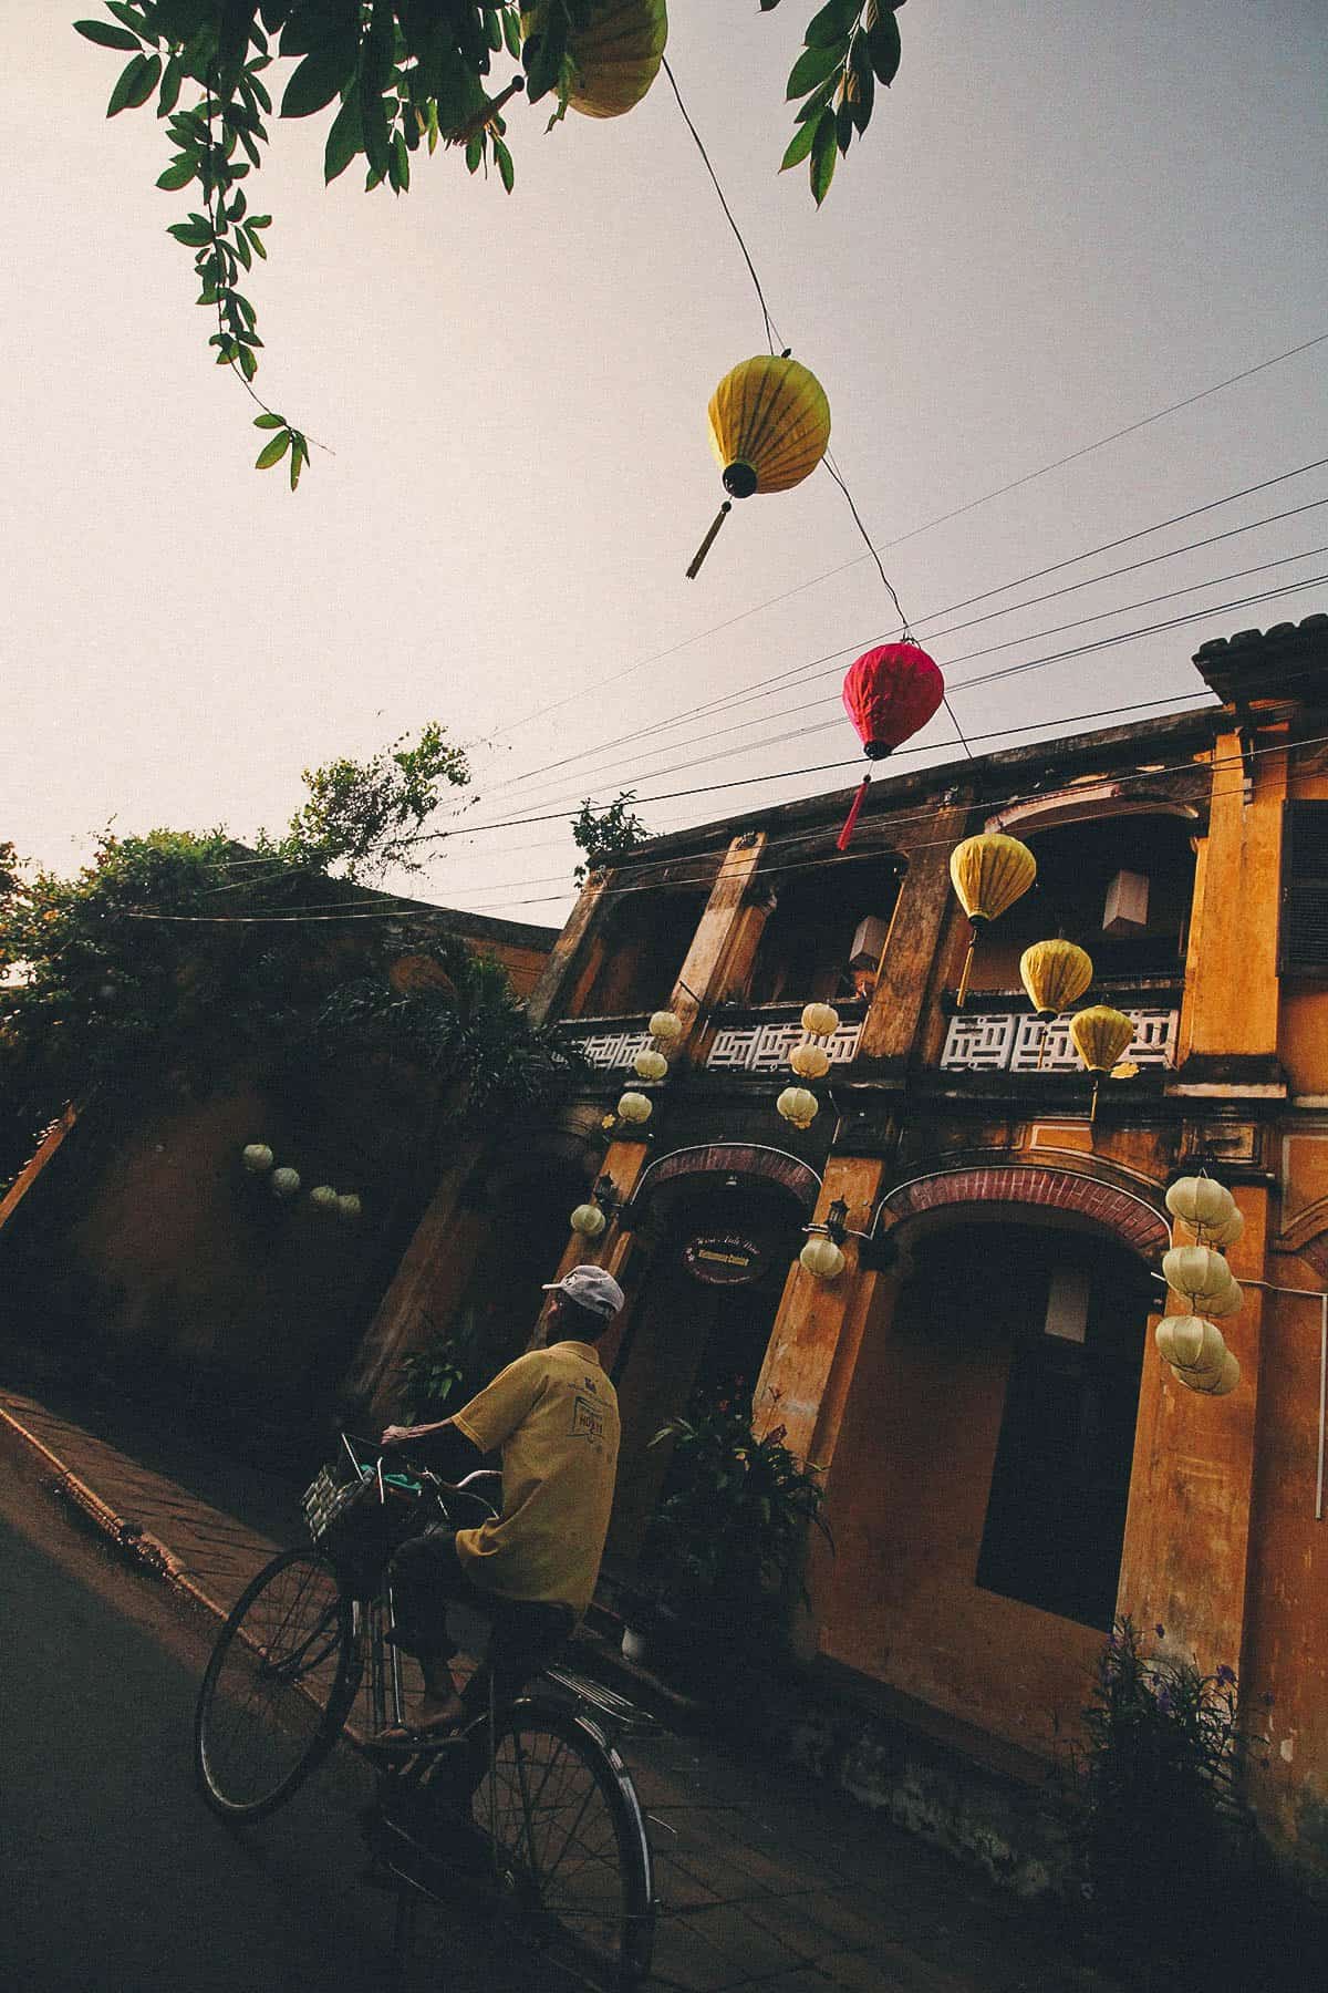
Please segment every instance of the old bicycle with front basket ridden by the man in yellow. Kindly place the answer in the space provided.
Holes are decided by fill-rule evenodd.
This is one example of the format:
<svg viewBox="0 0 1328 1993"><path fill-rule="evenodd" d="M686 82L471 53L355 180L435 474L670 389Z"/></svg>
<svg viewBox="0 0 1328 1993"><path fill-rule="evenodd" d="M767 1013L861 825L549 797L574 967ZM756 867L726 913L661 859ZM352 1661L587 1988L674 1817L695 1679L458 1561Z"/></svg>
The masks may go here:
<svg viewBox="0 0 1328 1993"><path fill-rule="evenodd" d="M348 1435L305 1495L313 1543L281 1551L235 1602L203 1674L193 1758L229 1822L277 1812L327 1758L368 1666L372 1736L404 1722L390 1644L392 1551L428 1521L496 1515L484 1487L388 1465ZM484 1487L482 1487L484 1485ZM645 1820L617 1742L655 1732L629 1702L563 1666L422 1744L380 1774L374 1853L396 1887L398 1963L420 1901L498 1913L591 1983L639 1985L651 1963L655 1883Z"/></svg>

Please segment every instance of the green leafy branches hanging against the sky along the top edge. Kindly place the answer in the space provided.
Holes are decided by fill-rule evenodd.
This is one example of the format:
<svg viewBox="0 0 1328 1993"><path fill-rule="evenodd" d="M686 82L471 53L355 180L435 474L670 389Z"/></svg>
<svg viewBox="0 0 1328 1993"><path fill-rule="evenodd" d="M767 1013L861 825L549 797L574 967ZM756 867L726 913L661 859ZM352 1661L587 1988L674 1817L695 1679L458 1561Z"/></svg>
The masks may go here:
<svg viewBox="0 0 1328 1993"><path fill-rule="evenodd" d="M243 185L263 165L273 116L273 64L295 64L279 118L331 112L323 177L336 179L354 159L364 185L410 189L412 163L438 143L456 149L470 173L496 171L512 193L516 165L506 108L522 92L552 104L555 126L577 84L577 30L621 0L106 0L110 18L74 28L123 64L108 118L155 98L171 157L157 185L197 187L199 205L171 223L193 253L197 303L215 321L209 347L259 407L265 432L259 470L287 462L291 490L309 462L309 434L255 389L259 317L245 273L267 257L273 217L255 213ZM773 12L780 0L761 0ZM904 0L830 0L806 28L806 48L788 78L788 98L804 98L784 165L810 159L816 205L836 159L866 132L874 86L890 84L900 60L894 8ZM502 88L496 64L514 64ZM185 102L181 102L185 100ZM327 448L327 444L317 444Z"/></svg>

